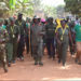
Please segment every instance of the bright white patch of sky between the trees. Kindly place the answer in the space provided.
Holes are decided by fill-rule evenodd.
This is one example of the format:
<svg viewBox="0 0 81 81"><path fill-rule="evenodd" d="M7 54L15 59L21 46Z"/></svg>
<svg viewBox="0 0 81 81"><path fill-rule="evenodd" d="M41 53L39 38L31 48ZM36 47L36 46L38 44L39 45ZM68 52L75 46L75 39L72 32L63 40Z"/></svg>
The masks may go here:
<svg viewBox="0 0 81 81"><path fill-rule="evenodd" d="M54 6L57 6L59 4L65 4L64 0L42 0L42 3L46 5L54 5Z"/></svg>

